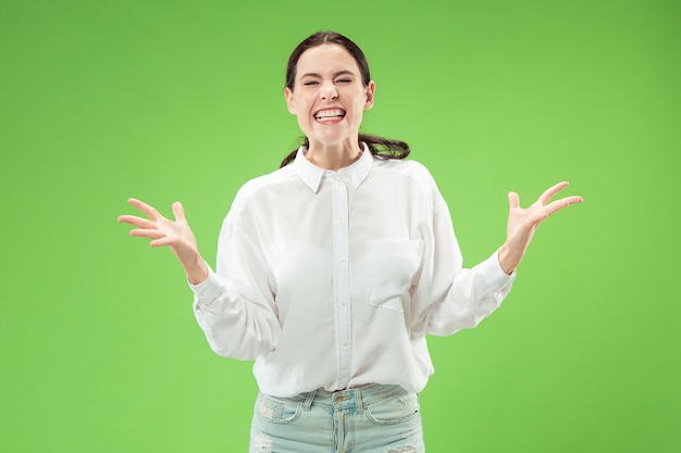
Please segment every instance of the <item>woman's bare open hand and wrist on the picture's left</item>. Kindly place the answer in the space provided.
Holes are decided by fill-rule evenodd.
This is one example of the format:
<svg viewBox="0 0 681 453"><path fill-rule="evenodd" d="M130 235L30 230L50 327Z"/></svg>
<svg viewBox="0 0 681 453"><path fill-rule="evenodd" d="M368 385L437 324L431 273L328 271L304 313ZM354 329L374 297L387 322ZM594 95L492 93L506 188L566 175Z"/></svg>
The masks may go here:
<svg viewBox="0 0 681 453"><path fill-rule="evenodd" d="M179 261L179 264L182 264L193 285L198 285L208 278L208 266L199 253L196 238L187 224L182 203L178 201L173 203L175 221L171 221L143 201L131 198L127 202L149 217L144 218L135 215L119 216L119 222L137 227L131 230L131 236L151 239L149 243L151 247L168 246Z"/></svg>

